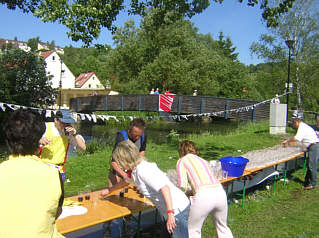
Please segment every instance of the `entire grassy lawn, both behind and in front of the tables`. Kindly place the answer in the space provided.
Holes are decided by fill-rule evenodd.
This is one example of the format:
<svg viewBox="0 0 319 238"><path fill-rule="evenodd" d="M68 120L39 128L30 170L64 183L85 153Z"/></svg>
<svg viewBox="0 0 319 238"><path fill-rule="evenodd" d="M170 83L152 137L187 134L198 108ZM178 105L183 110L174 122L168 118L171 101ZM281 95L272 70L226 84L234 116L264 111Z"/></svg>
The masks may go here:
<svg viewBox="0 0 319 238"><path fill-rule="evenodd" d="M289 130L289 133L294 133ZM287 137L286 135L285 137ZM240 155L248 151L279 144L284 136L271 136L268 123L247 124L227 135L192 135L200 154L207 160ZM147 158L166 171L173 169L178 160L177 145L181 140L173 136L165 144L147 145ZM79 191L96 190L107 186L112 147L88 155L71 157L67 162L66 196ZM276 192L258 187L246 195L245 209L233 203L229 206L228 223L234 237L319 237L319 189L301 189L302 170L292 173L289 183L277 183ZM217 237L210 219L206 220L202 237Z"/></svg>

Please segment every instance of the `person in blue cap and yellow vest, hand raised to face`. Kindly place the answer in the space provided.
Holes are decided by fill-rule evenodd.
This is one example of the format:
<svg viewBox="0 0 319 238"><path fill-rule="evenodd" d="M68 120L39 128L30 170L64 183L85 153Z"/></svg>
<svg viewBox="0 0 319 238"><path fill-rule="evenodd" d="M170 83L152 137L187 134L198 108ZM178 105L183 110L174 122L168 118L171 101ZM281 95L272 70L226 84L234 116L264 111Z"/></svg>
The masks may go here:
<svg viewBox="0 0 319 238"><path fill-rule="evenodd" d="M57 111L54 122L45 123L46 130L39 141L40 158L58 168L62 180L65 180L65 162L69 146L86 150L85 140L77 133L71 125L75 120L71 117L69 110Z"/></svg>

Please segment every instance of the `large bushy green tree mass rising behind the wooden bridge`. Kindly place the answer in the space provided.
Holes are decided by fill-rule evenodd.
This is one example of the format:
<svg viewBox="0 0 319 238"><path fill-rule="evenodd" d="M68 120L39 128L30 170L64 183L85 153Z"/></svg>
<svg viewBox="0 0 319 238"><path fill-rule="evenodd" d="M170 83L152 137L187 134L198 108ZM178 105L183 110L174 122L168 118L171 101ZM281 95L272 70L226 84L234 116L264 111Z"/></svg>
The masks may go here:
<svg viewBox="0 0 319 238"><path fill-rule="evenodd" d="M158 27L153 16L150 12L138 29L130 21L115 32L117 45L106 67L113 87L124 93L158 87L178 94L197 89L201 95L260 97L246 67L216 49L212 37L198 34L188 20Z"/></svg>

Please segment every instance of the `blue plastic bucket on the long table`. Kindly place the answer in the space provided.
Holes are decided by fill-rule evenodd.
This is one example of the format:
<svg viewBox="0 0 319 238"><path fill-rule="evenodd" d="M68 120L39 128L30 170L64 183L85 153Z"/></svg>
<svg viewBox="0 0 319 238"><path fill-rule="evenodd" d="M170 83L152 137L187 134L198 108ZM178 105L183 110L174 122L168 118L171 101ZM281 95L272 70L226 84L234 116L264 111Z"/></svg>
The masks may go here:
<svg viewBox="0 0 319 238"><path fill-rule="evenodd" d="M249 162L244 157L223 157L219 160L222 164L222 169L228 172L229 177L240 177L243 175L246 164Z"/></svg>

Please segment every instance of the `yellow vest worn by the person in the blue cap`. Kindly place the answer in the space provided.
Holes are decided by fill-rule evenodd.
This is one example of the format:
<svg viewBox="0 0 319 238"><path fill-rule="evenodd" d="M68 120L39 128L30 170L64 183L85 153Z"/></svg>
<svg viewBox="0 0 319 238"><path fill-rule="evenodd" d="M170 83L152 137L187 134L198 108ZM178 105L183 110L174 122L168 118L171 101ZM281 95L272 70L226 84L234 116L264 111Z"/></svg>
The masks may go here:
<svg viewBox="0 0 319 238"><path fill-rule="evenodd" d="M44 137L50 139L51 143L42 147L40 158L46 163L63 165L66 162L69 137L64 134L57 135L57 133L54 133L53 130L57 130L54 122L47 122L45 123L45 126L46 130Z"/></svg>

